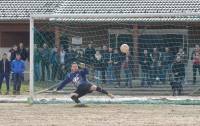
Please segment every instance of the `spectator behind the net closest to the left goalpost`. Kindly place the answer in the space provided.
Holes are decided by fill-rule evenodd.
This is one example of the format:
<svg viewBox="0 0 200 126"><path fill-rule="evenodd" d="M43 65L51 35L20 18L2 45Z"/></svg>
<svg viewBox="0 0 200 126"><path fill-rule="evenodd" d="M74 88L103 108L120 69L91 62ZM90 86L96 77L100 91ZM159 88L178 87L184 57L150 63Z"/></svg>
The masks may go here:
<svg viewBox="0 0 200 126"><path fill-rule="evenodd" d="M40 80L40 63L41 63L41 53L35 44L34 46L34 79L35 81Z"/></svg>

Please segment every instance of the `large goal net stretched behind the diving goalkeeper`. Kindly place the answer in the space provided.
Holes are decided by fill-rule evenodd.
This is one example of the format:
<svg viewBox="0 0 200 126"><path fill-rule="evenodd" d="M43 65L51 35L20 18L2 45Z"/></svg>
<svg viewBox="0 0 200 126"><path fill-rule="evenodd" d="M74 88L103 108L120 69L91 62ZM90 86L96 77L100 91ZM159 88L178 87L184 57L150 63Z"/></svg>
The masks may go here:
<svg viewBox="0 0 200 126"><path fill-rule="evenodd" d="M31 94L54 95L76 62L86 64L91 83L114 94L171 95L178 78L189 95L200 82L198 17L163 15L33 16ZM129 46L127 54L122 44ZM69 84L60 93L73 90Z"/></svg>

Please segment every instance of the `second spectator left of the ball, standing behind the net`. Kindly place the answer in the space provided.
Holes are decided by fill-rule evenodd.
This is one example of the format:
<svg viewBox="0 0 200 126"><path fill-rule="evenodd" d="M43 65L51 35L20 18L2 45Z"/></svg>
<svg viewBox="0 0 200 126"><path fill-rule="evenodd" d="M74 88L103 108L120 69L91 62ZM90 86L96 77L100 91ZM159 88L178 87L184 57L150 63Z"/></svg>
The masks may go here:
<svg viewBox="0 0 200 126"><path fill-rule="evenodd" d="M112 84L113 82L113 52L112 48L108 49L108 53L105 54L107 83Z"/></svg>

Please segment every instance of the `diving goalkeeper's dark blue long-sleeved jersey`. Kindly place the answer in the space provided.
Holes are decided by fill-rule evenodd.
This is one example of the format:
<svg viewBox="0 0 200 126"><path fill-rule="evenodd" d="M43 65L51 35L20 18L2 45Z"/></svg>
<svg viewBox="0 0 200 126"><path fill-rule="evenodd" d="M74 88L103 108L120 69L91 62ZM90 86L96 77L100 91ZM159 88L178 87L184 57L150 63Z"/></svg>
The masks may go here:
<svg viewBox="0 0 200 126"><path fill-rule="evenodd" d="M59 84L57 90L62 89L66 84L72 82L72 84L77 88L81 84L88 84L89 81L87 80L86 75L88 74L88 69L84 68L77 72L70 72L67 74L67 77L64 81Z"/></svg>

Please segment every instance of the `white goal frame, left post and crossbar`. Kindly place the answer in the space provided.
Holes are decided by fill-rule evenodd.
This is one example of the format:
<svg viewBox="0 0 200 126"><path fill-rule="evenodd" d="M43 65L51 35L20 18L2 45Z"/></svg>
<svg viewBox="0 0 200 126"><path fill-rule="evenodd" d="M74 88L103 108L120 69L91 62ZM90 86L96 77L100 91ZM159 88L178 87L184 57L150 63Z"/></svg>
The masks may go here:
<svg viewBox="0 0 200 126"><path fill-rule="evenodd" d="M29 18L30 32L30 75L29 75L29 92L30 97L34 97L34 21L47 20L50 18L75 18L75 19L110 19L113 18L174 18L174 17L198 17L200 21L200 12L181 12L181 13L85 13L85 14L34 14ZM163 21L163 20L162 20ZM196 20L191 20L192 22ZM184 22L190 22L186 20Z"/></svg>

